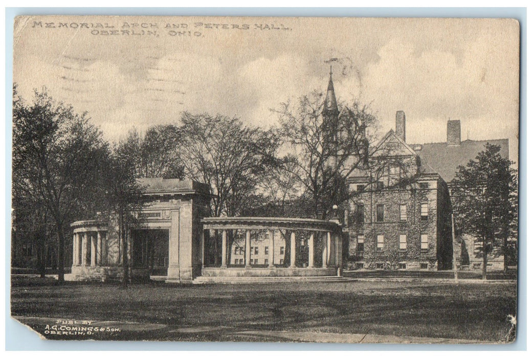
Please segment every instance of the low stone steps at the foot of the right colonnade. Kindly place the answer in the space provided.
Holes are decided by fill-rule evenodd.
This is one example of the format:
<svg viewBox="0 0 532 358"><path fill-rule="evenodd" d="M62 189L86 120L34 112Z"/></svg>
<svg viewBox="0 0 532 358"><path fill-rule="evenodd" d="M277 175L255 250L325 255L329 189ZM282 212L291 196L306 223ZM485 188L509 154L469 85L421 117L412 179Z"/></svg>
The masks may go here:
<svg viewBox="0 0 532 358"><path fill-rule="evenodd" d="M196 277L193 284L268 284L276 282L344 282L354 281L348 277L338 276L269 276L269 277L223 277L200 276Z"/></svg>

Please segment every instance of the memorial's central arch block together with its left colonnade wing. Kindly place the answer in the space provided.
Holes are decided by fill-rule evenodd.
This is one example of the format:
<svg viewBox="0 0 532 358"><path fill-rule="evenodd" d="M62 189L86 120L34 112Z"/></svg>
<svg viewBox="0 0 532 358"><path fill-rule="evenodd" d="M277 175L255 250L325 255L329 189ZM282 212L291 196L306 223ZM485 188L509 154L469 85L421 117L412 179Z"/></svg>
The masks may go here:
<svg viewBox="0 0 532 358"><path fill-rule="evenodd" d="M129 275L149 279L154 274L169 282L192 281L201 274L201 219L208 216L210 190L192 180L144 178L146 204L142 220L128 231ZM71 224L72 271L65 280L112 280L122 277L123 245L118 224L111 220L82 220Z"/></svg>

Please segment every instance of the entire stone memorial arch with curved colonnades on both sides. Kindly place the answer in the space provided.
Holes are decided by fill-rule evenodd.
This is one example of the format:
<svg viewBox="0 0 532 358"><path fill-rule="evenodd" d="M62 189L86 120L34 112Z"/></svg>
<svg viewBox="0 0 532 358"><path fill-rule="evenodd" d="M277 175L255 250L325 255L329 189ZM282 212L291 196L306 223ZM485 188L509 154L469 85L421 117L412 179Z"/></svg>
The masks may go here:
<svg viewBox="0 0 532 358"><path fill-rule="evenodd" d="M334 221L209 218L207 185L162 178L140 184L146 198L137 213L141 224L127 232L131 280L322 277L336 276L342 267L342 228ZM123 245L117 223L83 220L71 227L73 264L65 279L121 279Z"/></svg>

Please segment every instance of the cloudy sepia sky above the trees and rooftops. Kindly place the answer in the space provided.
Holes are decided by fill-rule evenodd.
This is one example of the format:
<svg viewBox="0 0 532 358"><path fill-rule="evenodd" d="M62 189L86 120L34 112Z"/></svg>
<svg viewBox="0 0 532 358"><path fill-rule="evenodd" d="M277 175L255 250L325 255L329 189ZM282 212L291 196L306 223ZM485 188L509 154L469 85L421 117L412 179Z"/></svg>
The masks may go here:
<svg viewBox="0 0 532 358"><path fill-rule="evenodd" d="M338 100L370 104L383 132L397 110L408 143L445 141L459 119L462 140L508 138L517 160L513 20L35 16L16 21L13 77L116 140L182 111L274 126L269 109L326 90L333 58Z"/></svg>

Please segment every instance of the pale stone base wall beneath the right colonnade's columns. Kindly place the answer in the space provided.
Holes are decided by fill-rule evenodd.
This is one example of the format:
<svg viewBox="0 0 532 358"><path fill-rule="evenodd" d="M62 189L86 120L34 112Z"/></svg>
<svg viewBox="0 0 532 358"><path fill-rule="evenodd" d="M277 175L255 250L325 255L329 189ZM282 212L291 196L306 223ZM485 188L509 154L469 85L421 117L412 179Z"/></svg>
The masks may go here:
<svg viewBox="0 0 532 358"><path fill-rule="evenodd" d="M204 277L306 277L337 276L337 268L203 268Z"/></svg>

